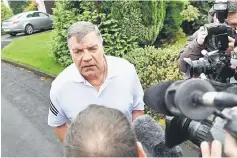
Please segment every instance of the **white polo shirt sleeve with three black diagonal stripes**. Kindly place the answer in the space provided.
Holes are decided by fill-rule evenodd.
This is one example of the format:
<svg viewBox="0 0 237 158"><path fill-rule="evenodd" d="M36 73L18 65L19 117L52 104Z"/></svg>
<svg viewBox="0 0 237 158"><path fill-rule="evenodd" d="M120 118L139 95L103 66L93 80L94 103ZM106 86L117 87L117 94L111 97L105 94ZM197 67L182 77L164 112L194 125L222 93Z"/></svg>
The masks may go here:
<svg viewBox="0 0 237 158"><path fill-rule="evenodd" d="M50 106L48 115L48 125L51 127L61 126L68 121L57 98L58 98L57 93L55 92L53 87L51 87L49 94Z"/></svg>

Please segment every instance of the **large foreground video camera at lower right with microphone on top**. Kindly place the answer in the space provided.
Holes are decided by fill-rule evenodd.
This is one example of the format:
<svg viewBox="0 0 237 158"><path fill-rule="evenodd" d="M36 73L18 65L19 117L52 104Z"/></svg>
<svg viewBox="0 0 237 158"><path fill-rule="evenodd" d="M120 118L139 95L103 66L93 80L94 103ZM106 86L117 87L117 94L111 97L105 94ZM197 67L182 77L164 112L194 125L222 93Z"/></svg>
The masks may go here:
<svg viewBox="0 0 237 158"><path fill-rule="evenodd" d="M197 78L168 81L148 88L144 102L166 115L167 147L186 140L197 146L202 141L223 143L227 131L237 139L237 86L228 89L216 92L211 82Z"/></svg>

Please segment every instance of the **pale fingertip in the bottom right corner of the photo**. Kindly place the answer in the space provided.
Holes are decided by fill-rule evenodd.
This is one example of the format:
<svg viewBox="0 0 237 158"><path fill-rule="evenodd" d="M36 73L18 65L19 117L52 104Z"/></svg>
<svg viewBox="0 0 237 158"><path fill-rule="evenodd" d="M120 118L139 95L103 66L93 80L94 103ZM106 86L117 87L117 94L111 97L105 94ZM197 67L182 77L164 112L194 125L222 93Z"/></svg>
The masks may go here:
<svg viewBox="0 0 237 158"><path fill-rule="evenodd" d="M224 152L229 157L237 157L237 141L230 134L226 135Z"/></svg>

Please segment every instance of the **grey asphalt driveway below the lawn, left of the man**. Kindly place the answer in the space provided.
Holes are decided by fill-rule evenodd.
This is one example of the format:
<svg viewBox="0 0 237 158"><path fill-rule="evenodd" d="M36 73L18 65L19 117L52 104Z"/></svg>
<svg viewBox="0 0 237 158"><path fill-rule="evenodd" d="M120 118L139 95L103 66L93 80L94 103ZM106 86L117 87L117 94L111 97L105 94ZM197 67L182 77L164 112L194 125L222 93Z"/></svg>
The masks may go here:
<svg viewBox="0 0 237 158"><path fill-rule="evenodd" d="M1 64L3 157L61 157L63 146L47 125L51 81Z"/></svg>

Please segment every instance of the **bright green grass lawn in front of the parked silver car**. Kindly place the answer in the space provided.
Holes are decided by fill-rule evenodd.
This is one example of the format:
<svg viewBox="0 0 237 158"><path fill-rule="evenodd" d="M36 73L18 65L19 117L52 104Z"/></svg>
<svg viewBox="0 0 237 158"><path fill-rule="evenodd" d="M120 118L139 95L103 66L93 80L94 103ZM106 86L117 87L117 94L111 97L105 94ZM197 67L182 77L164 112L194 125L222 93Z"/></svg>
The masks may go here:
<svg viewBox="0 0 237 158"><path fill-rule="evenodd" d="M52 75L58 75L64 67L58 64L50 50L51 31L14 40L3 48L2 58L28 65Z"/></svg>

